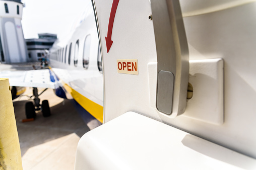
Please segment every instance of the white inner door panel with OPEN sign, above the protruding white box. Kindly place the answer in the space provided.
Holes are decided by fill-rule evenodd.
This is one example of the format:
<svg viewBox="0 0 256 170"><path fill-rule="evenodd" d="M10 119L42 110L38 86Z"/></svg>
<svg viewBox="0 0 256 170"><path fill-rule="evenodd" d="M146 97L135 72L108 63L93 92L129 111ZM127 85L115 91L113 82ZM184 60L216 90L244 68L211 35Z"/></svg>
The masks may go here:
<svg viewBox="0 0 256 170"><path fill-rule="evenodd" d="M171 0L93 1L103 58L104 123L135 112L254 160L255 2L179 2L182 15ZM177 29L180 18L183 31ZM178 104L187 87L186 46L193 97L183 110ZM175 98L175 92L183 94Z"/></svg>

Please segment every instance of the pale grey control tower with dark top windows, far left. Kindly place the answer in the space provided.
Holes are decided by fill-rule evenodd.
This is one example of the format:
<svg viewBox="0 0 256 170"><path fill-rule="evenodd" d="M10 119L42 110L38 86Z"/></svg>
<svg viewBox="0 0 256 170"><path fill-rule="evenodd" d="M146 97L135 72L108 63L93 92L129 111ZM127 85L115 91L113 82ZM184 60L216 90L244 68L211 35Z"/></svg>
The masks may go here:
<svg viewBox="0 0 256 170"><path fill-rule="evenodd" d="M21 20L24 4L21 0L0 0L0 62L28 61L27 46Z"/></svg>

